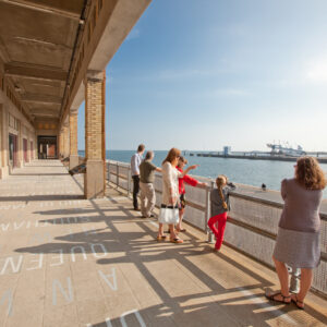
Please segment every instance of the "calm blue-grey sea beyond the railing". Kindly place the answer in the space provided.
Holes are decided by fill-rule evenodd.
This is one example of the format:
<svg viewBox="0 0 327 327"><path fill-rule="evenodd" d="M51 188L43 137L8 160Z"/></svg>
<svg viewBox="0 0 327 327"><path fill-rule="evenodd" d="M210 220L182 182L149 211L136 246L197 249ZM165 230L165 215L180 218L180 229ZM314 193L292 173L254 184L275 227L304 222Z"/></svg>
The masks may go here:
<svg viewBox="0 0 327 327"><path fill-rule="evenodd" d="M154 150L153 162L161 166L167 156L167 150ZM106 158L114 161L129 162L135 150L107 150ZM78 152L80 156L85 156L84 150ZM218 174L226 174L234 183L247 184L261 187L263 183L268 190L280 190L280 182L284 178L294 175L295 162L276 160L250 160L233 158L214 158L190 156L187 152L182 155L189 160L189 165L199 165L191 174L215 179ZM320 167L327 173L327 164ZM324 198L327 198L327 190L324 191Z"/></svg>

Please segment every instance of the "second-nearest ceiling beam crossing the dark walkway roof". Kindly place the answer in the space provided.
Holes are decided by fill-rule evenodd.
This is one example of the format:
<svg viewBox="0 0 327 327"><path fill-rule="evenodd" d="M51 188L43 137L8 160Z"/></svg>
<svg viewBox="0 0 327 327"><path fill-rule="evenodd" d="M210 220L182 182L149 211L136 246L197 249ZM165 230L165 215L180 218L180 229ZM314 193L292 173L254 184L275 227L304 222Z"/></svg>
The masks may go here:
<svg viewBox="0 0 327 327"><path fill-rule="evenodd" d="M66 81L65 71L50 66L11 62L4 65L4 73L11 77L24 77L43 81Z"/></svg>

